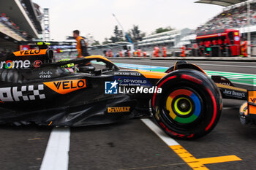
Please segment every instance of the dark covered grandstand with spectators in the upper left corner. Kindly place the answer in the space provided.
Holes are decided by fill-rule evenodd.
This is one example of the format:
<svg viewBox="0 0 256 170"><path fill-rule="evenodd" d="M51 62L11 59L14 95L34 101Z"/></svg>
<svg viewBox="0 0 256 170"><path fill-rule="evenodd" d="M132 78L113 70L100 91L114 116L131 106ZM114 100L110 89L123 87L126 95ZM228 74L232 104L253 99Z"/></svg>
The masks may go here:
<svg viewBox="0 0 256 170"><path fill-rule="evenodd" d="M0 0L0 53L18 50L18 42L39 39L42 12L31 0Z"/></svg>

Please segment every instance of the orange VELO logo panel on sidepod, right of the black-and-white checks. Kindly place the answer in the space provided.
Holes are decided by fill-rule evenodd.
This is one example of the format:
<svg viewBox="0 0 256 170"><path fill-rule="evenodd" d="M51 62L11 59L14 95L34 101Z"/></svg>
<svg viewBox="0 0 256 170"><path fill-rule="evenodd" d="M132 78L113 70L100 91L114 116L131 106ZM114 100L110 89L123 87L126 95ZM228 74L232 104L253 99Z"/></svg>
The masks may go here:
<svg viewBox="0 0 256 170"><path fill-rule="evenodd" d="M56 82L44 82L44 84L51 90L60 94L67 94L81 88L86 88L86 80L61 80Z"/></svg>

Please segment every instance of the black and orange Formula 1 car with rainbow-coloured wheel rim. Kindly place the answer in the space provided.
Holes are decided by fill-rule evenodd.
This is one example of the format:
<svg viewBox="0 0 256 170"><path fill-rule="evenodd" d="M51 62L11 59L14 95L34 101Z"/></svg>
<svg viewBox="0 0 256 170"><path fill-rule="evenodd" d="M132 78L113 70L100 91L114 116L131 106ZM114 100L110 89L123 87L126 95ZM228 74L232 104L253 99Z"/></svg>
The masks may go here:
<svg viewBox="0 0 256 170"><path fill-rule="evenodd" d="M83 126L154 117L181 139L217 125L222 97L247 97L225 77L211 80L187 62L165 73L119 69L100 55L53 62L53 51L42 46L1 58L0 81L0 123Z"/></svg>

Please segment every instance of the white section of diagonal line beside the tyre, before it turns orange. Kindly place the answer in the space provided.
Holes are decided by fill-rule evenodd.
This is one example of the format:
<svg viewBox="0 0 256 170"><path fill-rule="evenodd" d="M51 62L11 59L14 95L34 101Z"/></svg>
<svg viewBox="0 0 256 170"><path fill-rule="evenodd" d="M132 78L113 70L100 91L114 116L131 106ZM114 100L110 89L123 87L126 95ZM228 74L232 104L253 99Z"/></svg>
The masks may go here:
<svg viewBox="0 0 256 170"><path fill-rule="evenodd" d="M159 136L160 139L162 139L165 144L168 146L174 146L174 145L180 145L178 142L176 142L174 139L170 138L170 136L167 136L164 131L162 131L161 128L159 128L156 124L154 124L150 119L140 119L143 123L145 123L148 128L151 129L151 131L154 131L157 136Z"/></svg>

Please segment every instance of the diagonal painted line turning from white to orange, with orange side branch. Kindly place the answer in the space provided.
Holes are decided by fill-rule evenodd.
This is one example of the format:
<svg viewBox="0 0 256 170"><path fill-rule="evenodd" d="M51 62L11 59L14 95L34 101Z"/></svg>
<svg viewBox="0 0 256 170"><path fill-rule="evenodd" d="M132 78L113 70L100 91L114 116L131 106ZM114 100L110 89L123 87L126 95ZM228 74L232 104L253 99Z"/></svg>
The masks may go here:
<svg viewBox="0 0 256 170"><path fill-rule="evenodd" d="M154 131L165 144L167 144L176 154L186 162L194 170L208 170L205 164L208 163L224 163L230 161L242 161L236 155L226 155L213 158L195 158L191 153L184 149L178 142L167 136L157 125L155 125L150 119L141 119L151 131Z"/></svg>

